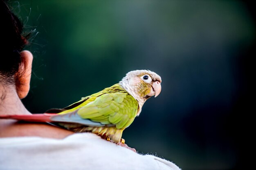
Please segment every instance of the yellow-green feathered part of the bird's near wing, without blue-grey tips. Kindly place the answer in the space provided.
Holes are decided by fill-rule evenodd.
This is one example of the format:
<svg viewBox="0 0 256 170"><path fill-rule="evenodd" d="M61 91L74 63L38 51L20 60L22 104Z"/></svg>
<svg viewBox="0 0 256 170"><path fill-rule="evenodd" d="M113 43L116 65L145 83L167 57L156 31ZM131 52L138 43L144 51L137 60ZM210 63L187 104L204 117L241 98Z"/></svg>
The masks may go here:
<svg viewBox="0 0 256 170"><path fill-rule="evenodd" d="M138 102L124 92L106 93L81 107L77 114L101 124L114 124L117 129L128 127L136 117Z"/></svg>

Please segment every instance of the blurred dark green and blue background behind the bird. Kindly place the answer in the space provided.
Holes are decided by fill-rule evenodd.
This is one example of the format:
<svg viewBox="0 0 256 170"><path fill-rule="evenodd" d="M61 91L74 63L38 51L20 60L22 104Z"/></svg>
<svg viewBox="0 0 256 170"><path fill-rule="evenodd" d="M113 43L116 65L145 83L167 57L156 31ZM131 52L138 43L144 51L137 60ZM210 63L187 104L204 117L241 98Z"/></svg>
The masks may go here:
<svg viewBox="0 0 256 170"><path fill-rule="evenodd" d="M34 54L23 100L29 111L63 108L131 70L152 70L162 77L162 93L124 131L126 143L183 170L245 169L255 6L235 0L10 4L27 32L36 29L27 47Z"/></svg>

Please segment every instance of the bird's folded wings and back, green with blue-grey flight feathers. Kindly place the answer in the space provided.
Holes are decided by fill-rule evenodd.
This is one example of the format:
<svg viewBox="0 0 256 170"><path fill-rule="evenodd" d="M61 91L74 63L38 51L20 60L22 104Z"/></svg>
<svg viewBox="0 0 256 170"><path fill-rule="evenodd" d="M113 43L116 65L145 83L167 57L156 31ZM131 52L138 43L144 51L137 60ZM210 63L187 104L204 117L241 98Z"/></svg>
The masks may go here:
<svg viewBox="0 0 256 170"><path fill-rule="evenodd" d="M64 109L65 111L53 116L52 120L123 129L136 117L138 102L119 84L115 84Z"/></svg>

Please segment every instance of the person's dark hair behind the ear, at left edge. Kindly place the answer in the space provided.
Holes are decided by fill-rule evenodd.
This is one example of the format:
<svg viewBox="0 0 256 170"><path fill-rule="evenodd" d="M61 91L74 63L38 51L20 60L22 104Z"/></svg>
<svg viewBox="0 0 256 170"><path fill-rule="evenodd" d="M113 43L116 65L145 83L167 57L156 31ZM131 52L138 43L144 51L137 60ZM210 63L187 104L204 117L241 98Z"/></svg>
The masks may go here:
<svg viewBox="0 0 256 170"><path fill-rule="evenodd" d="M21 63L20 52L28 44L27 36L22 36L23 24L13 14L9 4L0 0L1 41L0 46L0 81L15 82L15 75Z"/></svg>

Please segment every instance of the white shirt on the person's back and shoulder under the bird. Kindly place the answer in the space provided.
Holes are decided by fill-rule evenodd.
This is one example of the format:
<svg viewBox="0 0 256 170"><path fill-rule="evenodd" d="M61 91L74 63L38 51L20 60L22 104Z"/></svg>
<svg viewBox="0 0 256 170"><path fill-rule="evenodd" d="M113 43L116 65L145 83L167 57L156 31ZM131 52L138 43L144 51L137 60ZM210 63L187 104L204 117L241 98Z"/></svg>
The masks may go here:
<svg viewBox="0 0 256 170"><path fill-rule="evenodd" d="M174 163L141 155L93 133L64 139L0 138L0 170L180 170Z"/></svg>

